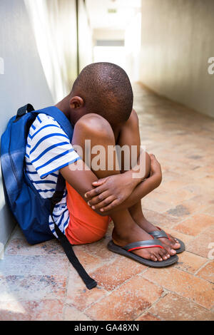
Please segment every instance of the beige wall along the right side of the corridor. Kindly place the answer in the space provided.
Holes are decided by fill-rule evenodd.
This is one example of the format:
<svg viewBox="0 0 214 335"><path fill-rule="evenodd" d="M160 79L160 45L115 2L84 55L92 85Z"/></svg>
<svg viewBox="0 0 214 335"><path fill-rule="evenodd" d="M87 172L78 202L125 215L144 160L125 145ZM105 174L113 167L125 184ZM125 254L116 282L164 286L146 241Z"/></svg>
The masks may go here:
<svg viewBox="0 0 214 335"><path fill-rule="evenodd" d="M213 0L142 0L140 80L214 117Z"/></svg>

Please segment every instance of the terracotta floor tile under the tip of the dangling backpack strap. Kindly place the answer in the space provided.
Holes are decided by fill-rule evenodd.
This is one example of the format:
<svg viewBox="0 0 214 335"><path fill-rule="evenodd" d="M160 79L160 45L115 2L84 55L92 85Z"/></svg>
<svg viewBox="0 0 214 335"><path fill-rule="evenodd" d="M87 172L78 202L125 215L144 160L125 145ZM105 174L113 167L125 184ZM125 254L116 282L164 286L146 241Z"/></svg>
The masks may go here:
<svg viewBox="0 0 214 335"><path fill-rule="evenodd" d="M78 310L83 311L86 307L105 297L108 292L101 288L95 287L87 289L75 269L70 269L67 286L66 302L72 304Z"/></svg>

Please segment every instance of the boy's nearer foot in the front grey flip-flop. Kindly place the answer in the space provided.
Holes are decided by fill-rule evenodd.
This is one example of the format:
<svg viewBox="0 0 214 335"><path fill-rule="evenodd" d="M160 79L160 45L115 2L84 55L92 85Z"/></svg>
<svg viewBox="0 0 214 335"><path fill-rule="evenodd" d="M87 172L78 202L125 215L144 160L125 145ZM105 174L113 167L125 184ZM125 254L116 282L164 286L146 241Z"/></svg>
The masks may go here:
<svg viewBox="0 0 214 335"><path fill-rule="evenodd" d="M116 228L113 229L112 239L115 244L120 247L124 247L126 244L130 244L138 241L146 241L148 239L153 240L150 234L142 230L141 227L135 225L131 227L131 230L123 229L123 232L118 232ZM150 259L153 262L162 262L170 257L170 254L165 248L161 247L150 247L146 249L133 250L134 254L145 259Z"/></svg>

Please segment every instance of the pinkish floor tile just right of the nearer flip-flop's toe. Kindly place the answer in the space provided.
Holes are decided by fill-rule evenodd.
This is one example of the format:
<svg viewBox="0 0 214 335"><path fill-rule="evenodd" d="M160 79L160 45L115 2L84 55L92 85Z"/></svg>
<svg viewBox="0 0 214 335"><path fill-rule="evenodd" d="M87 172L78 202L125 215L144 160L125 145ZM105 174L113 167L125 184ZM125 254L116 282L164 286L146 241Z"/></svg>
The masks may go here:
<svg viewBox="0 0 214 335"><path fill-rule="evenodd" d="M177 269L195 274L208 260L204 257L200 257L197 254L191 254L190 252L182 252L178 255L178 263L175 264Z"/></svg>

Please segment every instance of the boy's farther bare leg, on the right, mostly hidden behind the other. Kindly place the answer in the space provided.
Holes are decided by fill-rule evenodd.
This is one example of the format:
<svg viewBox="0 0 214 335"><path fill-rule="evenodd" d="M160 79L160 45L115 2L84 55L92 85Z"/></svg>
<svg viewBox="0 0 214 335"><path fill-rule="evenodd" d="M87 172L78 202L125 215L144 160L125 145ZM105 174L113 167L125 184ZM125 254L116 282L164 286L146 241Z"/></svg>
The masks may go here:
<svg viewBox="0 0 214 335"><path fill-rule="evenodd" d="M140 154L141 147L141 138L138 127L138 115L133 110L131 113L131 117L128 119L126 124L123 126L120 136L118 138L118 145L128 145L131 148L131 145L136 145L138 150L138 155ZM130 149L131 150L131 149ZM131 163L130 163L131 164ZM124 167L124 162L122 160L122 168ZM148 162L146 162L146 171L149 175L148 171ZM122 170L122 172L124 172ZM133 220L143 228L146 232L153 232L154 230L158 230L156 226L154 226L151 222L148 222L143 215L141 200L138 201L135 205L130 207L129 212ZM170 252L171 255L175 254L175 249L180 248L180 244L176 242L176 240L170 236L170 239L161 237L161 242L165 244L165 248Z"/></svg>

